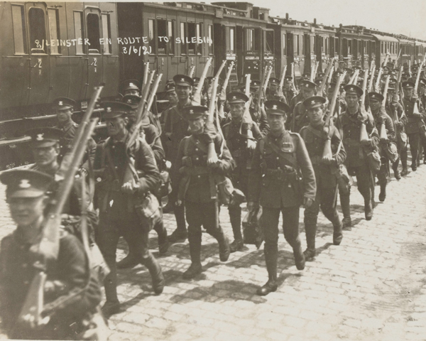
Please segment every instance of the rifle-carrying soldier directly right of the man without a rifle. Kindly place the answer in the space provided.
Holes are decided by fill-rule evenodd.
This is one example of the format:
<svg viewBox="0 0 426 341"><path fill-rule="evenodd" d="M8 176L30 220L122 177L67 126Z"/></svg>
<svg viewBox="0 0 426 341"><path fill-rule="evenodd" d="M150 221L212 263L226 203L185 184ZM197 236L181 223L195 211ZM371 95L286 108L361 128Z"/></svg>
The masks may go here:
<svg viewBox="0 0 426 341"><path fill-rule="evenodd" d="M314 96L303 102L307 108L310 124L300 131L307 153L309 153L312 167L317 181L317 194L310 207L305 209L305 233L307 249L304 252L307 261L315 257L315 235L317 233L317 219L320 207L324 216L333 224L333 244L342 242L342 221L336 210L338 167L346 158L346 151L342 145L340 134L334 125L325 126L325 99ZM331 140L332 158L324 158L324 145L327 139Z"/></svg>

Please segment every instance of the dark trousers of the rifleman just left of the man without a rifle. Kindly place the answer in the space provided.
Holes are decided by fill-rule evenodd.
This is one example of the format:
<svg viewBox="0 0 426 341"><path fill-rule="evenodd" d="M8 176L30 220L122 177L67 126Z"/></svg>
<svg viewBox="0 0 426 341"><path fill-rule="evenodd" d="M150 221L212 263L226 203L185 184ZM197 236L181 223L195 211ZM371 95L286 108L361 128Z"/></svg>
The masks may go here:
<svg viewBox="0 0 426 341"><path fill-rule="evenodd" d="M219 244L224 242L225 234L219 224L219 205L212 202L185 201L186 219L188 222L188 242L192 263L200 263L201 227L214 237Z"/></svg>

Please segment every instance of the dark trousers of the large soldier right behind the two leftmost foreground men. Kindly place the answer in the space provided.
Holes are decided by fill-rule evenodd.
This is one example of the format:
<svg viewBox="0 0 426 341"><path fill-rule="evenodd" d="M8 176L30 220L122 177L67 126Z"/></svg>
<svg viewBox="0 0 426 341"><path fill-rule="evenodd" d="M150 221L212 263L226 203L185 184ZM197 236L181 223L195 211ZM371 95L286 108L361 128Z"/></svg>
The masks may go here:
<svg viewBox="0 0 426 341"><path fill-rule="evenodd" d="M99 220L99 248L107 262L110 273L104 280L107 301L118 302L116 250L119 238L125 237L129 249L133 250L138 261L151 271L159 267L148 249L149 228L141 224L136 213L129 213L125 218L117 219L108 213L101 213ZM152 274L151 274L152 276Z"/></svg>

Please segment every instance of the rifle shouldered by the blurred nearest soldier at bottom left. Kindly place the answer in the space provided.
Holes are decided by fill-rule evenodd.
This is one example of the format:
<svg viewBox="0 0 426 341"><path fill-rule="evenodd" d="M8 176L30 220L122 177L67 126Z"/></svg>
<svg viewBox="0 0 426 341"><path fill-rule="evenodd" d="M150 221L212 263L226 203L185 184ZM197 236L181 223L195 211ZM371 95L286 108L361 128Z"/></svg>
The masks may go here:
<svg viewBox="0 0 426 341"><path fill-rule="evenodd" d="M96 102L97 96L99 96L99 92L95 92L91 99L92 102ZM55 261L55 259L58 258L61 213L65 205L65 201L70 194L72 184L74 183L75 174L77 173L86 151L87 141L92 136L94 127L97 125L98 120L99 119L92 119L89 124L87 121L80 124L82 125L81 130L83 130L82 134L79 135L80 144L77 146L74 153L71 154L70 166L67 168L64 180L60 183L55 200L53 201L54 205L50 208L48 215L45 216L42 231L43 236L39 244L35 244L30 248L31 253L36 259L33 266L38 272L31 281L31 286L28 289L26 300L24 301L21 312L18 315L16 328L18 328L18 326L22 323L30 323L33 327L45 325L50 320L50 316L42 316L44 311L44 284L47 277L46 264L48 261ZM77 137L77 134L75 137Z"/></svg>

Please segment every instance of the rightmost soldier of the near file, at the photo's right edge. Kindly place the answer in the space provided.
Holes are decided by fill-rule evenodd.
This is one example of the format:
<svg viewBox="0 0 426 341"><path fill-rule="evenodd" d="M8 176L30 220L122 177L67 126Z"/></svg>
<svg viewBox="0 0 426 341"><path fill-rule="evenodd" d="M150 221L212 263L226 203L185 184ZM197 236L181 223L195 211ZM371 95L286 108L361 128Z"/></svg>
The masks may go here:
<svg viewBox="0 0 426 341"><path fill-rule="evenodd" d="M411 169L417 170L417 166L420 166L420 160L417 160L419 155L420 144L423 148L426 147L425 139L422 139L420 134L420 127L425 125L425 108L420 102L418 95L414 92L415 84L407 81L402 83L403 86L403 106L405 108L405 114L407 115L407 124L405 125L405 132L408 135L408 142L410 144L411 151ZM417 103L418 112L414 112L415 104ZM426 148L425 148L426 149Z"/></svg>

